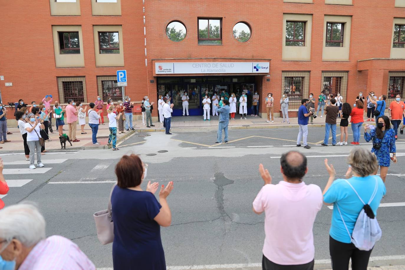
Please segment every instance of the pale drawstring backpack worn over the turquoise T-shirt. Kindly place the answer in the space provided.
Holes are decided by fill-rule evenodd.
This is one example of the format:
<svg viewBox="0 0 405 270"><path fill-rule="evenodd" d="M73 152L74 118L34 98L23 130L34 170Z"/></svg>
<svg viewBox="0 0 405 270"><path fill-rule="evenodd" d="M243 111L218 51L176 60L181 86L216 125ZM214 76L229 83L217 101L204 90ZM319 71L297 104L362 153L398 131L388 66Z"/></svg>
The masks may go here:
<svg viewBox="0 0 405 270"><path fill-rule="evenodd" d="M345 225L347 234L349 234L351 242L356 246L356 248L364 251L369 251L371 250L375 242L380 240L382 232L381 229L378 225L377 218L374 216L374 212L370 207L370 203L373 201L375 194L377 194L377 189L378 189L378 179L375 179L375 188L374 192L371 195L371 198L369 200L368 204L365 204L363 200L360 198L358 195L356 189L347 181L344 179L347 184L350 185L350 187L356 192L357 197L360 199L360 201L364 204L364 207L361 209L360 214L357 217L356 223L354 224L354 229L352 232L352 235L350 235L349 230L347 230L347 226L345 221L343 220L342 213L340 212L339 206L336 203L337 210L339 211L340 217L343 221L343 224Z"/></svg>

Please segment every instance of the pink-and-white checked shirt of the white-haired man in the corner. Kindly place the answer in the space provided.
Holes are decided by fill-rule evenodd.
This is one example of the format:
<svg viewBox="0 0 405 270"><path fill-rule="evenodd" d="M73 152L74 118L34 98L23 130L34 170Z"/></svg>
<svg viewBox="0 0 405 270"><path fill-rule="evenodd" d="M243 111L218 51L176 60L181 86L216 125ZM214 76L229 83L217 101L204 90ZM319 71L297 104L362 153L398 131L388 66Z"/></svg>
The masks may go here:
<svg viewBox="0 0 405 270"><path fill-rule="evenodd" d="M18 269L96 270L96 267L75 243L54 235L38 242Z"/></svg>

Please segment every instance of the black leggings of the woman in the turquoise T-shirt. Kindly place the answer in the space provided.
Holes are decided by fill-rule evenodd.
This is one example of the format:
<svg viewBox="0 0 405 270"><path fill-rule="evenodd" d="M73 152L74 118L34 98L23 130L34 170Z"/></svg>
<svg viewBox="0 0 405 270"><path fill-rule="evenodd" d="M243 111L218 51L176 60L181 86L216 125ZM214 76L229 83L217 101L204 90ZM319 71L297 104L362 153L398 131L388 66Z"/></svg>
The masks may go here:
<svg viewBox="0 0 405 270"><path fill-rule="evenodd" d="M333 270L348 270L352 259L352 270L367 270L371 251L363 251L354 246L339 242L329 236L329 252Z"/></svg>

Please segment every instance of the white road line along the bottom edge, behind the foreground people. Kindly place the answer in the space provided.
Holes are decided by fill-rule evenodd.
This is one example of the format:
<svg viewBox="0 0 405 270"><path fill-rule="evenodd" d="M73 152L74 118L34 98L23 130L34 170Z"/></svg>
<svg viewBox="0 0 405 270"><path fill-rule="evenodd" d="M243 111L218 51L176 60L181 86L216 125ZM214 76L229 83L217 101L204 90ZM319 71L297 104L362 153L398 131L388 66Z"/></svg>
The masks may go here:
<svg viewBox="0 0 405 270"><path fill-rule="evenodd" d="M375 256L370 257L369 261L386 261L405 259L405 255ZM330 264L330 259L315 260L315 264ZM209 265L190 265L190 266L168 266L167 270L189 270L189 269L226 269L226 268L247 268L262 267L262 263L251 264L209 264ZM98 270L113 270L112 267L97 268Z"/></svg>

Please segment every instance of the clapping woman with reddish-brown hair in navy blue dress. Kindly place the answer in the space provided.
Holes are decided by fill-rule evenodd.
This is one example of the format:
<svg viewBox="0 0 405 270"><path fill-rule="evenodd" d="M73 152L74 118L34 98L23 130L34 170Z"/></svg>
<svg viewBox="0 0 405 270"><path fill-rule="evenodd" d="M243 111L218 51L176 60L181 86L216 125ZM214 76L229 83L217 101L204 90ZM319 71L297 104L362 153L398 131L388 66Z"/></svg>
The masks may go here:
<svg viewBox="0 0 405 270"><path fill-rule="evenodd" d="M166 106L166 105L165 105ZM169 105L167 105L169 106ZM166 270L160 226L168 227L172 215L167 197L173 181L161 186L159 202L153 195L157 182L146 184L148 165L137 155L124 155L115 166L117 185L111 194L114 221L113 268Z"/></svg>

